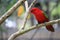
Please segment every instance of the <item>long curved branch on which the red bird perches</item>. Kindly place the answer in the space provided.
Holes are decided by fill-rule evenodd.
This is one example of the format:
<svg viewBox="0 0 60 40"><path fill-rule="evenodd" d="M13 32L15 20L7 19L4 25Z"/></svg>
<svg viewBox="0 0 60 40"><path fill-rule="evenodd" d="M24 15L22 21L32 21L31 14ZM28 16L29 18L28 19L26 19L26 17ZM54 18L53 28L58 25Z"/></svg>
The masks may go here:
<svg viewBox="0 0 60 40"><path fill-rule="evenodd" d="M60 22L60 19L53 20L53 21L46 22L46 23L42 23L42 24L38 24L38 25L34 25L34 26L30 27L29 29L18 31L18 32L12 34L12 36L10 36L10 38L8 40L14 40L16 37L21 36L22 34L27 33L31 30L34 30L34 29L40 28L40 27L44 27L44 26L50 25L50 24L53 25L53 24L58 23L58 22Z"/></svg>

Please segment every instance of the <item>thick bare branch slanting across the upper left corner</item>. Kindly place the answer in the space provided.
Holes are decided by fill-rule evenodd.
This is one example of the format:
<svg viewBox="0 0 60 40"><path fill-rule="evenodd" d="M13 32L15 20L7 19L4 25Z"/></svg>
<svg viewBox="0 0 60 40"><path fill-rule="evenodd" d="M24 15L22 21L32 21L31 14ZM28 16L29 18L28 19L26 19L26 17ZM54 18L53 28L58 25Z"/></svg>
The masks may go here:
<svg viewBox="0 0 60 40"><path fill-rule="evenodd" d="M20 4L24 3L25 0L19 0L15 5L13 5L2 17L0 18L0 25L10 16L13 12L20 6Z"/></svg>

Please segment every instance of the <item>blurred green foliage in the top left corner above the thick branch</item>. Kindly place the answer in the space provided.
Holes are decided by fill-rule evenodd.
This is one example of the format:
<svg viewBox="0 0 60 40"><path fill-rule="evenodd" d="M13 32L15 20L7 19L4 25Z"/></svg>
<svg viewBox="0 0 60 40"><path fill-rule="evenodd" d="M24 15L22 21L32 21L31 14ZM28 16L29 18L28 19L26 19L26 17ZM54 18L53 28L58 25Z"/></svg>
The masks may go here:
<svg viewBox="0 0 60 40"><path fill-rule="evenodd" d="M8 9L10 9L17 0L2 0L2 3L0 4L0 9L3 10L0 14L4 14ZM4 9L3 9L4 8Z"/></svg>

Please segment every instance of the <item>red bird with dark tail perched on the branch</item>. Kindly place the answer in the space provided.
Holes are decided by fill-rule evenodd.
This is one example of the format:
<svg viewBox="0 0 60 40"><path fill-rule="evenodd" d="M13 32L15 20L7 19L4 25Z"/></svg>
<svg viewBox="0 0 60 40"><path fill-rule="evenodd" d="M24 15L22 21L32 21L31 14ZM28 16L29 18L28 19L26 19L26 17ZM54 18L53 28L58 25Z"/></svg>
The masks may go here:
<svg viewBox="0 0 60 40"><path fill-rule="evenodd" d="M38 21L38 23L44 23L44 22L48 22L49 19L45 16L45 14L43 13L42 10L40 10L37 7L34 7L30 10L30 12L35 16L36 20ZM52 27L52 25L47 25L46 29L48 31L54 32L54 28Z"/></svg>

